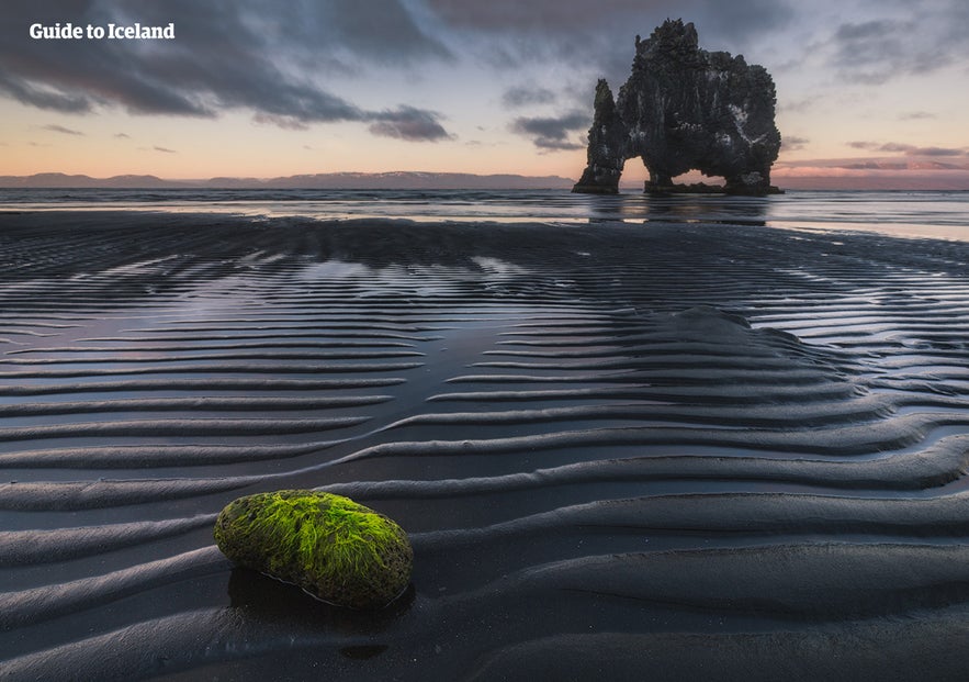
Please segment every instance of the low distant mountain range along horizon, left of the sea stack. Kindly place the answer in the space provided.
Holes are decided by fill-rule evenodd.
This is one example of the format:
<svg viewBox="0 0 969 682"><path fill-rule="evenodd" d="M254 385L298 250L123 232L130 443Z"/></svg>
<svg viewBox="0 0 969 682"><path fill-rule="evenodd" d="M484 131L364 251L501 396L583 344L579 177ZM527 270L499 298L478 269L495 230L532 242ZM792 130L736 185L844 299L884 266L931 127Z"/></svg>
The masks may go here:
<svg viewBox="0 0 969 682"><path fill-rule="evenodd" d="M164 180L155 176L113 176L41 172L33 176L0 176L3 188L38 189L572 189L574 180L559 176L488 175L464 172L326 172L280 178L210 178Z"/></svg>

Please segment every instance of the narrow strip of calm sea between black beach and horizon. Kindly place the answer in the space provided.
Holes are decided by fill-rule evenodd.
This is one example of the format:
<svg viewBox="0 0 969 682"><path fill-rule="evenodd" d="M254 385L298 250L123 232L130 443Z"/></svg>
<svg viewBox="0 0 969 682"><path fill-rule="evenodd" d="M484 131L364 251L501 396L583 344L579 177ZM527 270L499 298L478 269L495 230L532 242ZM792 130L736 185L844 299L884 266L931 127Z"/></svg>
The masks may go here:
<svg viewBox="0 0 969 682"><path fill-rule="evenodd" d="M131 210L465 223L711 223L969 239L969 191L795 191L770 197L563 190L0 189L0 210Z"/></svg>

